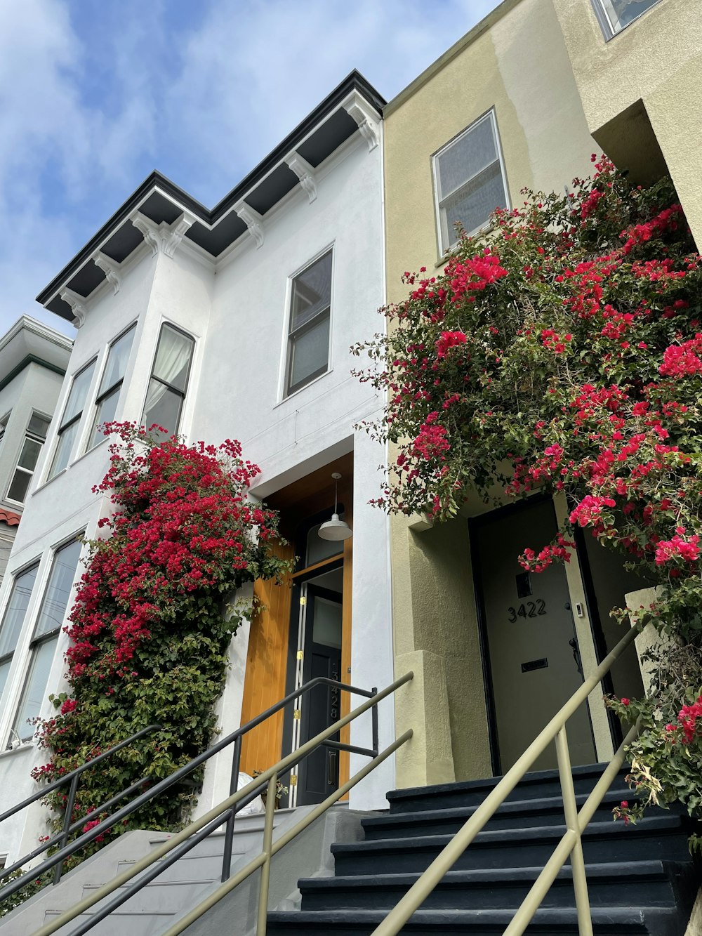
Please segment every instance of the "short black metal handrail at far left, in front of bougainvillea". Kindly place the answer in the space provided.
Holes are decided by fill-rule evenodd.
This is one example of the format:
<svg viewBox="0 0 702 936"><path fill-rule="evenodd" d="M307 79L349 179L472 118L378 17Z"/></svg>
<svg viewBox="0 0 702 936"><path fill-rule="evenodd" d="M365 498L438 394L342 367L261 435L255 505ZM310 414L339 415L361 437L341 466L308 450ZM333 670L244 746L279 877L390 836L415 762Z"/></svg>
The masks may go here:
<svg viewBox="0 0 702 936"><path fill-rule="evenodd" d="M40 845L37 846L37 848L34 849L34 851L30 852L28 855L23 856L22 858L20 858L19 861L16 861L13 865L9 865L3 868L0 871L0 881L2 881L3 878L6 878L13 871L16 871L22 868L22 865L25 865L28 861L32 861L37 856L41 855L42 852L46 852L47 849L51 848L52 845L55 845L57 843L66 845L66 842L68 841L68 836L71 834L71 832L75 832L77 828L79 828L80 826L84 826L85 823L87 822L90 822L90 820L94 816L99 815L101 812L105 812L106 809L110 809L112 806L115 805L115 803L118 803L120 799L124 799L124 797L128 797L132 793L135 793L139 789L139 786L141 786L142 783L147 781L147 778L142 778L138 782L132 783L131 786L126 787L126 789L124 789L121 793L116 794L116 796L114 797L110 797L110 799L108 799L107 802L103 803L101 806L98 806L97 809L92 810L87 815L79 819L77 822L74 822L73 824L71 824L71 813L73 812L73 806L76 801L76 791L78 790L78 781L80 778L80 774L84 773L86 770L90 770L91 768L94 768L95 764L99 764L100 761L103 761L106 758L111 757L113 753L117 751L121 751L123 748L127 747L129 744L133 744L134 741L139 740L139 738L143 738L145 735L149 735L151 734L152 731L157 731L160 728L161 728L160 724L150 724L146 728L141 728L140 731L136 731L133 735L130 735L129 738L125 738L124 741L120 741L119 744L115 744L108 751L103 751L102 753L97 754L96 757L93 757L89 761L85 761L85 763L81 764L80 767L77 767L71 770L69 773L66 773L66 775L63 777L59 777L58 780L54 780L48 786L43 787L41 790L37 790L37 793L33 793L31 797L22 799L22 802L17 803L11 809L6 810L6 812L3 812L2 814L0 814L0 822L4 822L5 819L9 819L10 816L16 815L25 807L31 806L32 803L36 803L37 799L43 799L44 797L47 796L47 794L52 793L54 790L60 789L66 783L70 782L70 787L68 789L68 797L66 798L66 814L64 815L64 827L62 828L62 830L59 832L58 835L53 836L53 838L43 841ZM54 884L58 884L59 881L61 880L61 872L63 870L63 867L64 867L63 860L59 861L56 864L54 874L53 874ZM26 882L22 882L22 886L25 883ZM16 888L16 889L19 890L19 888ZM3 894L3 891L0 891L0 895L2 894Z"/></svg>

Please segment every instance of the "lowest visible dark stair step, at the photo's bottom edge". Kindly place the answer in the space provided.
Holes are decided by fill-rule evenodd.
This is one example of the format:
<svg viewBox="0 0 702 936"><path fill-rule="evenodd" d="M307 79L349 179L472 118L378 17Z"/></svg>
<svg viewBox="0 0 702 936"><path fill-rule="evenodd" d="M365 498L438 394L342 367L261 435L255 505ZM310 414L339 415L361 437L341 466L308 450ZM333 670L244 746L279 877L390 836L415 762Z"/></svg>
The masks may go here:
<svg viewBox="0 0 702 936"><path fill-rule="evenodd" d="M295 913L276 912L268 914L269 931L285 930L301 933L327 932L335 936L346 933L372 933L386 917L385 911L297 911ZM418 910L404 925L402 932L417 934L503 933L514 915L510 910ZM643 916L643 918L642 918ZM665 924L675 919L674 911L656 908L642 914L633 907L595 907L592 908L594 932L602 936L628 936L629 933L649 934L651 932L669 933ZM655 926L651 929L649 923ZM578 933L578 917L575 910L541 908L534 914L528 933L544 933L548 936L564 936L566 933Z"/></svg>

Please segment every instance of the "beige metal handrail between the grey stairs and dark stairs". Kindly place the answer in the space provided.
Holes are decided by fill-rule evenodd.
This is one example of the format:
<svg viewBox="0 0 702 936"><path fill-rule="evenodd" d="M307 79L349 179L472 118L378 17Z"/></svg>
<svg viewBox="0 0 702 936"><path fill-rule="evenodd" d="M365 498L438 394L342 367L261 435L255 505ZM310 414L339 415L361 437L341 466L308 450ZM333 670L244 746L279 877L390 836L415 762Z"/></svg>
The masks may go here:
<svg viewBox="0 0 702 936"><path fill-rule="evenodd" d="M159 845L154 851L150 852L148 855L140 858L139 861L136 861L130 868L124 870L121 874L118 874L117 877L113 878L110 882L101 887L95 889L95 892L90 896L83 898L79 903L74 904L70 909L66 910L63 914L60 914L55 919L51 920L50 923L45 924L41 929L37 929L34 936L50 936L51 933L56 932L57 929L61 929L66 926L67 923L70 923L71 920L74 920L77 916L84 913L86 910L89 910L91 907L98 903L100 900L109 897L110 894L113 894L118 888L123 887L128 881L131 881L132 878L140 874L141 871L146 870L154 862L158 861L159 858L162 858L168 855L168 852L171 852L177 846L183 844L195 833L199 832L201 829L204 829L205 826L212 826L212 830L217 828L227 820L227 815L231 812L232 807L236 806L242 799L246 799L251 794L253 794L259 787L264 783L268 782L268 796L266 797L266 819L264 824L264 833L263 833L263 851L261 855L258 856L254 861L250 863L245 869L240 870L232 878L229 878L224 885L219 887L210 897L200 903L195 910L193 910L186 917L183 917L174 927L168 929L168 936L173 936L175 933L180 933L189 926L194 920L199 916L209 910L218 900L225 897L225 895L236 885L240 884L242 880L252 874L256 868L261 868L261 880L259 884L259 901L258 901L258 918L257 918L257 929L256 936L265 936L266 934L266 916L267 916L267 904L268 904L268 886L269 886L269 877L271 869L271 857L275 855L288 841L294 839L300 832L314 822L314 819L318 818L323 812L329 809L333 803L338 799L344 796L353 786L355 786L359 781L361 781L365 776L367 776L374 768L381 764L389 755L395 751L405 741L409 740L412 737L412 730L406 731L400 738L388 745L388 747L373 757L368 764L365 765L358 773L345 782L338 790L336 790L330 797L320 803L314 808L314 810L308 813L307 816L296 826L293 826L285 835L282 836L278 841L272 842L272 831L273 831L273 810L275 808L275 790L276 782L278 776L284 774L288 768L293 767L295 764L299 763L304 757L309 753L312 753L315 748L323 744L327 739L335 735L341 728L346 724L350 724L359 715L364 714L364 712L369 709L373 709L379 702L384 698L387 698L388 695L396 692L400 686L404 685L405 682L409 682L414 677L414 673L409 672L405 673L399 680L395 680L389 686L382 690L382 692L373 695L371 698L367 699L357 709L350 711L347 715L344 715L344 718L339 719L338 722L329 725L329 728L325 728L324 731L321 731L318 735L315 735L314 738L307 741L305 744L302 744L300 748L292 753L289 753L286 757L280 760L277 764L274 764L271 768L264 770L260 773L256 780L247 783L246 786L242 786L240 790L237 790L236 793L233 793L230 797L223 800L219 803L218 806L215 806L209 812L206 812L204 815L200 816L199 819L196 819L195 822L190 823L189 826L185 826L182 831L173 835L168 841L163 842ZM95 920L95 923L97 921ZM90 924L86 925L84 928L80 927L79 931L83 932L86 929L89 929Z"/></svg>

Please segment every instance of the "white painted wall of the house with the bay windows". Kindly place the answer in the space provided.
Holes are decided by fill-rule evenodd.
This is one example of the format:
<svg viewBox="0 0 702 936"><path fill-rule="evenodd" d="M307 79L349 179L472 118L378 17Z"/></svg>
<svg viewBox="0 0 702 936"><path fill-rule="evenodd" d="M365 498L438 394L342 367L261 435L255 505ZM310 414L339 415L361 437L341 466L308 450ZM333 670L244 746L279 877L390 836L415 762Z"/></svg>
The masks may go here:
<svg viewBox="0 0 702 936"><path fill-rule="evenodd" d="M159 330L166 321L196 339L181 431L190 440L214 444L227 437L238 438L245 457L263 471L253 491L256 496L270 494L353 448L351 678L369 688L382 688L392 680L387 520L367 504L379 487L376 468L384 461L384 452L353 428L358 420L377 411L379 401L371 388L350 375L356 359L348 354L351 344L383 327L383 319L376 314L384 300L381 146L369 152L365 140L356 134L318 169L317 192L310 203L296 187L267 215L262 247L256 249L253 238L245 236L216 265L187 241L172 258L164 253L153 256L151 247L144 243L120 271L117 294L105 283L86 302L88 313L77 333L56 407L59 418L37 466L37 486L26 505L8 574L0 587L2 609L11 586L9 573L42 557L33 603L0 704L0 747L7 739L22 692L31 627L42 591L40 583L50 567L51 549L81 530L94 535L97 519L109 509L106 499L91 493L108 467L108 446L103 443L87 453L84 447L94 417L90 401L95 399L110 342L132 322L137 323L137 330L117 419L140 421ZM329 373L282 401L290 278L329 245L334 250ZM78 457L63 473L46 481L70 378L94 358ZM48 692L62 691L66 641L62 635ZM232 667L219 705L225 732L241 720L247 645L248 627L243 626L232 644ZM354 743L370 745L370 718L366 723L354 728ZM389 702L381 712L380 732L382 746L393 734ZM33 792L29 770L44 759L43 753L26 746L0 753L0 778L4 781L0 784L0 812ZM228 758L206 774L200 812L227 795L225 760ZM384 806L393 778L388 761L382 771L357 788L351 805ZM17 822L4 834L7 845L3 850L7 849L10 859L21 854L21 845L28 851L43 831L39 814Z"/></svg>

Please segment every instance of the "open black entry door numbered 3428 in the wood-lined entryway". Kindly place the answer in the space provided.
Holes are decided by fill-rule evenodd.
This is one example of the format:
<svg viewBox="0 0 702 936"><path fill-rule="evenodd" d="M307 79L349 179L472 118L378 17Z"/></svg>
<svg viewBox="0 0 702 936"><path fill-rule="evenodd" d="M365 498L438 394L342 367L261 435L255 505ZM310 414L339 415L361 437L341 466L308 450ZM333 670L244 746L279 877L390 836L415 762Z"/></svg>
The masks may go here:
<svg viewBox="0 0 702 936"><path fill-rule="evenodd" d="M302 681L325 676L341 681L342 596L307 585L307 613L302 658ZM300 706L300 745L341 717L341 693L333 686L316 686ZM338 741L338 734L331 740ZM320 803L339 785L339 752L321 747L306 757L298 771L298 805Z"/></svg>

